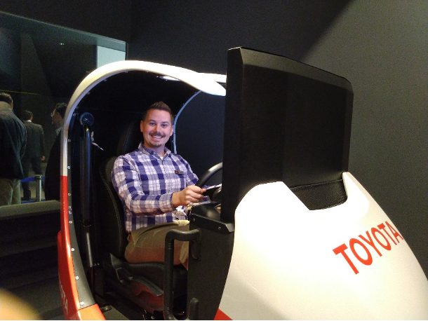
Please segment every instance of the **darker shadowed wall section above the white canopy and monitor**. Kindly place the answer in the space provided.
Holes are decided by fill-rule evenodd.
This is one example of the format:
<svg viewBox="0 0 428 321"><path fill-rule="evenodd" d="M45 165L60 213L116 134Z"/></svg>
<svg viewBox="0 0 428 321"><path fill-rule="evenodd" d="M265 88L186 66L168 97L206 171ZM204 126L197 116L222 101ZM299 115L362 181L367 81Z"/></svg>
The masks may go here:
<svg viewBox="0 0 428 321"><path fill-rule="evenodd" d="M225 74L238 46L300 60L349 1L133 1L129 58Z"/></svg>

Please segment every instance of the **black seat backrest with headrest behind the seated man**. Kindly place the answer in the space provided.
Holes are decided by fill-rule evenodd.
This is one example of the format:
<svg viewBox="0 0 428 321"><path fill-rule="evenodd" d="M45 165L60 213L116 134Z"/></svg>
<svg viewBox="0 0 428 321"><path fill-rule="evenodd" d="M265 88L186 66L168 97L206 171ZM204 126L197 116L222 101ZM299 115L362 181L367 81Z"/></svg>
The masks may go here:
<svg viewBox="0 0 428 321"><path fill-rule="evenodd" d="M100 184L97 189L102 245L105 250L120 259L123 259L128 244L128 233L125 230L123 205L112 184L112 170L117 156L137 149L141 140L140 121L129 123L119 139L116 156L102 162L99 168Z"/></svg>

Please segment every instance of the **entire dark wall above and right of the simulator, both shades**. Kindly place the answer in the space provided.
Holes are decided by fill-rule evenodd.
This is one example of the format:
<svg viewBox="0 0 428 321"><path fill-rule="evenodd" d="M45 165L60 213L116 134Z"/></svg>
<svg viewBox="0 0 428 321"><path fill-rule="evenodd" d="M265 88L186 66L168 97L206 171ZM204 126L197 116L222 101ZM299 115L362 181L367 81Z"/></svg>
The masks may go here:
<svg viewBox="0 0 428 321"><path fill-rule="evenodd" d="M27 0L0 11L128 41L128 59L224 74L227 49L246 46L344 76L349 170L428 275L428 1Z"/></svg>

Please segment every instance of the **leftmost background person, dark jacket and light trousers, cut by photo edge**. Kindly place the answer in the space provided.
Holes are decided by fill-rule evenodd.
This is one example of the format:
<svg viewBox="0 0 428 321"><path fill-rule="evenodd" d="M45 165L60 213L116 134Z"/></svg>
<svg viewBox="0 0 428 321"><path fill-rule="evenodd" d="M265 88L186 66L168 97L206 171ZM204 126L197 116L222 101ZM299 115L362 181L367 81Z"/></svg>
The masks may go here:
<svg viewBox="0 0 428 321"><path fill-rule="evenodd" d="M22 158L27 130L13 114L11 95L0 93L0 206L21 203Z"/></svg>

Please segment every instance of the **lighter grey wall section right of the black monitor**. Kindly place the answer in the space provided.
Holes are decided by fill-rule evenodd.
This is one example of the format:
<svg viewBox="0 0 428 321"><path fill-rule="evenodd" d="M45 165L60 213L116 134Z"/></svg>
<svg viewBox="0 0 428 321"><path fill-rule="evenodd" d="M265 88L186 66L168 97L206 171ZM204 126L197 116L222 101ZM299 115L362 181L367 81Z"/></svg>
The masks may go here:
<svg viewBox="0 0 428 321"><path fill-rule="evenodd" d="M349 169L428 275L428 1L354 1L304 61L354 88Z"/></svg>

